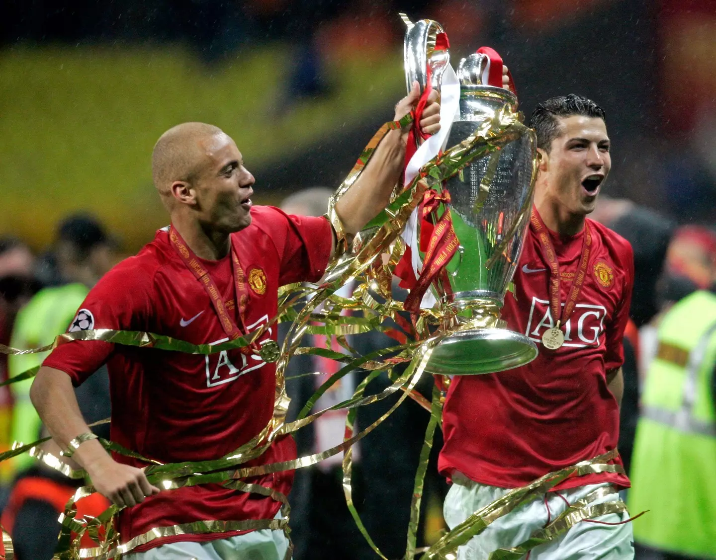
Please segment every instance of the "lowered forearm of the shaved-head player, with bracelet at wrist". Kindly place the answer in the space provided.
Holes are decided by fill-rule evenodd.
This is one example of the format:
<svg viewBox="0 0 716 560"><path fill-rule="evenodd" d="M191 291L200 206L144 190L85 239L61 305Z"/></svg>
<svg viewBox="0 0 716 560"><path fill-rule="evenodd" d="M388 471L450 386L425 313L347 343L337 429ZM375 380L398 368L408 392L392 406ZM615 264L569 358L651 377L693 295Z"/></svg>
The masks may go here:
<svg viewBox="0 0 716 560"><path fill-rule="evenodd" d="M62 449L89 431L79 411L72 381L64 371L40 368L30 388L30 398L47 431ZM82 443L72 457L88 471L110 459L97 440Z"/></svg>

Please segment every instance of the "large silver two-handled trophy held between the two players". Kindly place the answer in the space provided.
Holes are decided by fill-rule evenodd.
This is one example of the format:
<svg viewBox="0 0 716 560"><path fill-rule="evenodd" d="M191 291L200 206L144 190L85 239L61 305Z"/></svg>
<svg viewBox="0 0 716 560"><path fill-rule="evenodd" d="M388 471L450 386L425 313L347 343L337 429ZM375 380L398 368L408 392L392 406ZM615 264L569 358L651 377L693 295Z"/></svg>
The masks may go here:
<svg viewBox="0 0 716 560"><path fill-rule="evenodd" d="M412 82L417 80L422 90L426 87L440 90L442 80L440 102L445 109L448 74L452 74L453 92L458 85L450 67L447 37L436 21L421 20L412 24L406 16L401 16L407 24L407 87L410 90ZM444 37L442 48L440 34ZM453 100L455 109L459 104L459 113L455 112L452 127L450 118L446 121L441 109L442 127L450 127L442 149L475 138L475 134L485 141L474 144L475 159L435 189L440 205L432 222L426 225L420 217L412 220L413 240L422 241L427 235L435 235L441 221L451 221L457 237L453 243L456 250L451 256L449 252L445 255L447 264L430 283L432 298L426 294L421 305L432 307L432 313L440 320L440 331L445 333L432 350L426 367L436 374L493 373L524 365L537 355L537 347L531 340L506 329L505 321L500 320L500 309L528 227L536 179L536 138L534 132L521 123L521 114L516 112L516 95L485 83L489 64L490 58L485 54L476 53L462 59L457 72L459 102ZM416 216L425 215L420 213L425 205L427 202L416 209ZM423 236L423 227L434 227L434 231ZM410 247L410 236L404 232L403 238L407 238ZM429 265L426 256L430 257L427 255L430 250L425 251L417 242L410 248L412 255L417 252L425 269ZM420 267L414 270L417 277Z"/></svg>

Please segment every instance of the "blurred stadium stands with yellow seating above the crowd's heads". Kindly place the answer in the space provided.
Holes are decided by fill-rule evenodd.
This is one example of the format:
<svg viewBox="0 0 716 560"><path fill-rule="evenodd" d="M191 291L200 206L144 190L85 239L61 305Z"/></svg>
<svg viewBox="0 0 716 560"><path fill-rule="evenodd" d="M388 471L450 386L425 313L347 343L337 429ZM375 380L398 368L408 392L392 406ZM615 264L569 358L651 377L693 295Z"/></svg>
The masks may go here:
<svg viewBox="0 0 716 560"><path fill-rule="evenodd" d="M166 218L150 152L178 122L217 124L259 203L336 186L405 90L402 22L445 27L453 62L495 47L522 108L576 92L608 116L606 194L711 222L716 9L711 0L4 1L0 235L41 250L84 210L127 252Z"/></svg>

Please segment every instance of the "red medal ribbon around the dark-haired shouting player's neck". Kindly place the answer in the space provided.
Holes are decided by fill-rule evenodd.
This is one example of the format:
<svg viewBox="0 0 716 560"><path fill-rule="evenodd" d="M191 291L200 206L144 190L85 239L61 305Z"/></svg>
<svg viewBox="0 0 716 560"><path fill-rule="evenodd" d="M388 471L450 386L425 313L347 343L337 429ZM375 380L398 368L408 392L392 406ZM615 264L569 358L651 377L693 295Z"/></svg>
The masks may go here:
<svg viewBox="0 0 716 560"><path fill-rule="evenodd" d="M559 262L557 261L557 255L556 252L554 252L554 246L552 245L552 240L549 237L547 227L544 225L541 216L534 208L532 209L532 214L530 216L530 223L539 237L543 248L543 255L549 265L549 309L552 313L552 317L557 321L556 328L560 328L561 325L569 320L570 315L574 311L577 298L579 298L579 290L581 290L581 287L584 284L584 278L586 277L586 269L589 265L589 254L591 252L591 231L589 230L589 223L584 223L584 239L582 240L579 267L577 267L577 275L574 278L571 290L569 290L569 295L567 296L567 301L563 310L561 310L562 305L559 300L561 280L559 276Z"/></svg>

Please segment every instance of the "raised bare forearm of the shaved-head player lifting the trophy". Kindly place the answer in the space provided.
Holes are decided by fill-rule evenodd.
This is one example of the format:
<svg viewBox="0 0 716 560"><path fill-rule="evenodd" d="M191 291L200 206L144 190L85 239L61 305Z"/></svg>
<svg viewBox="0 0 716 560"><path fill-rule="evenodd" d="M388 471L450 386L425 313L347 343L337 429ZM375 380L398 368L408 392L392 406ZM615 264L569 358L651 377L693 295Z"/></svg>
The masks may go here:
<svg viewBox="0 0 716 560"><path fill-rule="evenodd" d="M378 144L360 177L336 202L346 233L356 234L390 202L405 162L405 139L391 130Z"/></svg>

